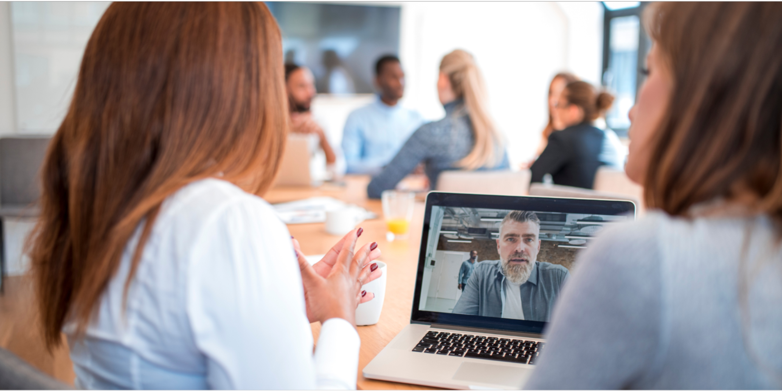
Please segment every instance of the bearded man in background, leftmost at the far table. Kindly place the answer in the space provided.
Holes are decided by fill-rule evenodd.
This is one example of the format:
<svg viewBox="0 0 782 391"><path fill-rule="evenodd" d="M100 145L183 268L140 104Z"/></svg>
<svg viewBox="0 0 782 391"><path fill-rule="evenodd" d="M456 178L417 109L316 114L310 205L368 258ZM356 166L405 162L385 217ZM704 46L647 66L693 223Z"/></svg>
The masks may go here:
<svg viewBox="0 0 782 391"><path fill-rule="evenodd" d="M339 156L339 151L332 148L328 141L328 135L317 120L312 111L312 99L315 98L315 77L307 66L285 64L285 88L288 91L290 105L290 129L293 133L316 136L314 141L323 151L327 170L332 174L343 174L344 162Z"/></svg>

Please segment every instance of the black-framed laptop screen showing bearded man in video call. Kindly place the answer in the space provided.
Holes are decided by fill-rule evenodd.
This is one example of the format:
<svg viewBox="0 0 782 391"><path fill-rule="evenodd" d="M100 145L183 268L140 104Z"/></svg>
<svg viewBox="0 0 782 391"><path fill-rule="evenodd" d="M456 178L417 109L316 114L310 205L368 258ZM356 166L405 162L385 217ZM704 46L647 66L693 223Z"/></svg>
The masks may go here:
<svg viewBox="0 0 782 391"><path fill-rule="evenodd" d="M577 254L627 201L431 193L413 321L543 332Z"/></svg>

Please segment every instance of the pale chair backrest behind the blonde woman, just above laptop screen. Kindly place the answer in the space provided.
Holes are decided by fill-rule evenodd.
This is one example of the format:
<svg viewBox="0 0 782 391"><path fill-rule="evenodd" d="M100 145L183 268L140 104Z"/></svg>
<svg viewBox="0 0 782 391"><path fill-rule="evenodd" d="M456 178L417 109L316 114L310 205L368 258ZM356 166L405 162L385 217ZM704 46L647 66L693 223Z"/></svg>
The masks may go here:
<svg viewBox="0 0 782 391"><path fill-rule="evenodd" d="M495 195L527 195L529 170L521 171L443 171L437 179L440 192Z"/></svg>

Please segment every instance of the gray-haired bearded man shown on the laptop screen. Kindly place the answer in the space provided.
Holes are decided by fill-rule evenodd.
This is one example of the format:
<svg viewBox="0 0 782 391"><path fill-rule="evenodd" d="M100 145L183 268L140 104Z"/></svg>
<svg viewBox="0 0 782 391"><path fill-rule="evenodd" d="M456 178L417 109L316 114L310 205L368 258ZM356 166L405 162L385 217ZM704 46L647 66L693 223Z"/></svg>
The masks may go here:
<svg viewBox="0 0 782 391"><path fill-rule="evenodd" d="M554 301L569 277L561 265L539 262L540 219L513 210L500 224L499 260L475 265L454 314L548 321Z"/></svg>

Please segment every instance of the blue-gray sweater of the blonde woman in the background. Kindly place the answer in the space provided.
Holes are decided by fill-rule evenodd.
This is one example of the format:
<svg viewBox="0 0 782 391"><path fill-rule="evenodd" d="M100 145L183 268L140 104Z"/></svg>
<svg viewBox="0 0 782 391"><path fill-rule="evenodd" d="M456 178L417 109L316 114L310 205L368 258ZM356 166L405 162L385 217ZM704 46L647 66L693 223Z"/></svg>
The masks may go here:
<svg viewBox="0 0 782 391"><path fill-rule="evenodd" d="M441 172L458 169L454 163L472 151L475 135L472 134L472 123L461 99L447 103L444 108L445 118L419 127L382 172L372 178L367 186L369 198L380 198L384 190L395 188L421 162L425 165L429 188L432 190L437 188ZM497 153L502 154L497 167L482 167L479 170L508 170L508 153L504 148Z"/></svg>

